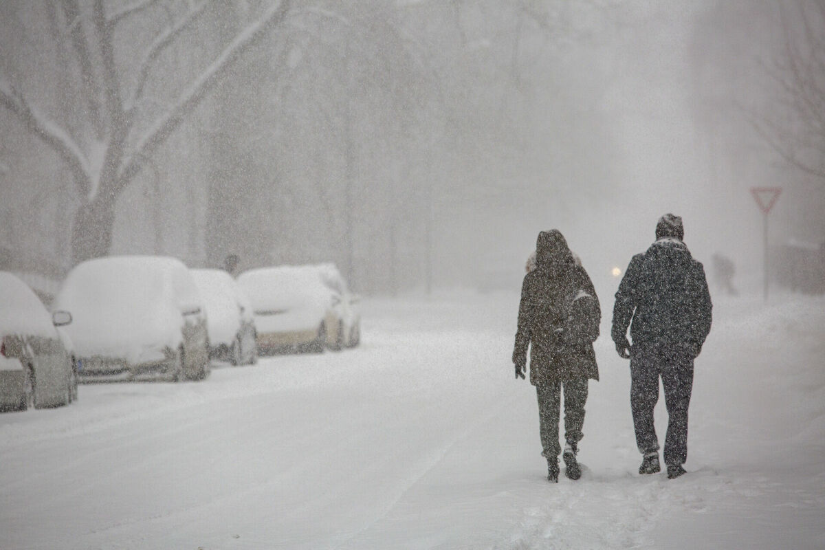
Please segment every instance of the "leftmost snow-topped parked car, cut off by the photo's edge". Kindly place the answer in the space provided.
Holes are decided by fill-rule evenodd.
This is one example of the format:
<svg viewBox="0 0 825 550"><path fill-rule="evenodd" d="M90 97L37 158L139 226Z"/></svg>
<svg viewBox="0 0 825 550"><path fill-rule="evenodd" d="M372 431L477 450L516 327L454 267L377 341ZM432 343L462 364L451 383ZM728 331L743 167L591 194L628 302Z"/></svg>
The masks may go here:
<svg viewBox="0 0 825 550"><path fill-rule="evenodd" d="M72 360L56 325L68 312L49 314L29 286L0 271L0 407L67 405L77 396Z"/></svg>

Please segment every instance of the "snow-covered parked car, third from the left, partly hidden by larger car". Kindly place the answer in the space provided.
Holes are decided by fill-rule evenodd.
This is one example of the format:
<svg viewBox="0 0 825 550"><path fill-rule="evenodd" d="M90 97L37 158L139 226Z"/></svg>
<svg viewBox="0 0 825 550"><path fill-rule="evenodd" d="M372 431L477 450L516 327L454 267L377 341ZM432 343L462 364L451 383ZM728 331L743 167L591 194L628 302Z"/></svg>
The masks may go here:
<svg viewBox="0 0 825 550"><path fill-rule="evenodd" d="M252 304L224 270L193 269L195 284L206 308L210 356L231 364L257 361Z"/></svg>

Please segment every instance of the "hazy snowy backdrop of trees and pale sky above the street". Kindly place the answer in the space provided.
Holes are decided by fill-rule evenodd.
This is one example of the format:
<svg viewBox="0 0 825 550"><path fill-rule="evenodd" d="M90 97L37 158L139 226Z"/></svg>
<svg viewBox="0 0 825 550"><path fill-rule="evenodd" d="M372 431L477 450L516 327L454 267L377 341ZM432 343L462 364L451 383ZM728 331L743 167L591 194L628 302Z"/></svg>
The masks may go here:
<svg viewBox="0 0 825 550"><path fill-rule="evenodd" d="M751 187L825 241L823 38L821 2L0 2L0 265L518 289L559 228L610 303L673 212L761 276Z"/></svg>

